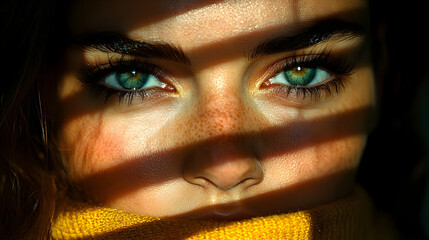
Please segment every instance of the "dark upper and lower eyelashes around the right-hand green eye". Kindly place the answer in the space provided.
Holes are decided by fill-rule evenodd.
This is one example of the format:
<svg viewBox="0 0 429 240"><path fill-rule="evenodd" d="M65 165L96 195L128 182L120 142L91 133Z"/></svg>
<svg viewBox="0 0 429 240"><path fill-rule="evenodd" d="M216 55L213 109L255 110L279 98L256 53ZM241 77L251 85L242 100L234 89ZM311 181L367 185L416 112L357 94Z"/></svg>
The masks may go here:
<svg viewBox="0 0 429 240"><path fill-rule="evenodd" d="M311 87L279 85L276 90L279 93L285 94L286 97L293 93L297 97L302 96L303 99L306 96L310 96L318 100L322 98L322 94L325 94L325 96L330 96L333 92L338 94L340 88L345 87L345 77L352 74L353 63L349 58L335 58L329 52L325 51L320 54L294 56L280 60L280 62L276 62L268 67L268 71L274 73L269 78L295 67L322 68L333 76L331 79Z"/></svg>

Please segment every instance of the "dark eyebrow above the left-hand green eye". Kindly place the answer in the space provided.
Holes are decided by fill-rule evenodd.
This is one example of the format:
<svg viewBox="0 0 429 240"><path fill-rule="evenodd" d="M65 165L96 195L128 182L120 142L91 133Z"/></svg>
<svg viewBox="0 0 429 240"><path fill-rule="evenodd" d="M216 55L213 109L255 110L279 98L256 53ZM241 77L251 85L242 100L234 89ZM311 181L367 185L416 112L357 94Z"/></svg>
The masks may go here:
<svg viewBox="0 0 429 240"><path fill-rule="evenodd" d="M72 45L85 50L130 54L147 58L164 58L189 65L190 60L179 47L168 43L136 41L118 32L97 32L79 35L70 40Z"/></svg>

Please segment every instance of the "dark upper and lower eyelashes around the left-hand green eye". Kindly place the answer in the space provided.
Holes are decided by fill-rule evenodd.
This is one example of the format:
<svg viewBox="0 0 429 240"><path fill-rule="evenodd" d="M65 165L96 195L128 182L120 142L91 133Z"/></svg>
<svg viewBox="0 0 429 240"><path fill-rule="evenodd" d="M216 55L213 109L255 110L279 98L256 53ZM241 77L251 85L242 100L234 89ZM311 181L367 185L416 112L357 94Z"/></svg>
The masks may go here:
<svg viewBox="0 0 429 240"><path fill-rule="evenodd" d="M105 64L86 64L80 70L79 79L83 87L89 89L96 98L104 96L105 103L114 94L118 94L119 103L124 100L128 102L128 104L131 104L136 96L145 99L156 92L153 91L154 89L140 89L138 91L119 90L106 87L99 83L100 79L113 72L130 70L150 73L160 81L167 77L166 71L157 65L146 63L137 58L124 60L124 56L121 56L118 59L109 58L108 63Z"/></svg>

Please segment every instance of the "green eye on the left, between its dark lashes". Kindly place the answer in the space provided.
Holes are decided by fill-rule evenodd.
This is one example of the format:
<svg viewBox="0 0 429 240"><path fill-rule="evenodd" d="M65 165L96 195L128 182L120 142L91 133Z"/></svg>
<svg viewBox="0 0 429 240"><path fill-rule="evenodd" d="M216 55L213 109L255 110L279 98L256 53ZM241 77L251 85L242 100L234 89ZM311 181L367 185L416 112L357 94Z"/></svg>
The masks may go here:
<svg viewBox="0 0 429 240"><path fill-rule="evenodd" d="M104 79L103 83L109 87L131 91L152 87L164 88L166 86L153 74L134 70L113 72Z"/></svg>

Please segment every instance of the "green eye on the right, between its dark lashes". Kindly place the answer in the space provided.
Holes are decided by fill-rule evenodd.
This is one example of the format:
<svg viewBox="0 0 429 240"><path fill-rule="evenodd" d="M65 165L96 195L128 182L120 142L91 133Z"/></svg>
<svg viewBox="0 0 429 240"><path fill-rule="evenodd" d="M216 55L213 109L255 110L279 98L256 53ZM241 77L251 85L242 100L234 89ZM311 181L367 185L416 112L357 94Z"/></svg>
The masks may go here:
<svg viewBox="0 0 429 240"><path fill-rule="evenodd" d="M269 79L271 84L311 86L327 80L331 75L320 68L294 67L286 69Z"/></svg>

